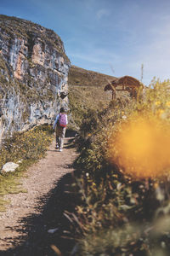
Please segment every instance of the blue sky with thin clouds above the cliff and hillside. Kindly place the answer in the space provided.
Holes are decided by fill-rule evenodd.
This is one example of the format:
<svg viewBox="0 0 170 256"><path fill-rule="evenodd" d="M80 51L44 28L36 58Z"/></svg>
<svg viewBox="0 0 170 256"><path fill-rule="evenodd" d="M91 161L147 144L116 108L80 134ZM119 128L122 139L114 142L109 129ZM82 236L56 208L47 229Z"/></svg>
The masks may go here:
<svg viewBox="0 0 170 256"><path fill-rule="evenodd" d="M53 29L72 65L116 77L170 79L169 0L0 0L0 14Z"/></svg>

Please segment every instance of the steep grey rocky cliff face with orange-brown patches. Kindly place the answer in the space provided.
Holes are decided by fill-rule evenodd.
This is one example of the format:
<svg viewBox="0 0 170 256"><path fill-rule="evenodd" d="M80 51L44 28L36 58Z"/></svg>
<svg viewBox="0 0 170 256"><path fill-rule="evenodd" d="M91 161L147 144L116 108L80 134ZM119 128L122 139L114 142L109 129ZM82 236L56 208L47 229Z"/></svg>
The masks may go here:
<svg viewBox="0 0 170 256"><path fill-rule="evenodd" d="M14 131L53 121L67 104L70 67L52 30L0 15L0 143Z"/></svg>

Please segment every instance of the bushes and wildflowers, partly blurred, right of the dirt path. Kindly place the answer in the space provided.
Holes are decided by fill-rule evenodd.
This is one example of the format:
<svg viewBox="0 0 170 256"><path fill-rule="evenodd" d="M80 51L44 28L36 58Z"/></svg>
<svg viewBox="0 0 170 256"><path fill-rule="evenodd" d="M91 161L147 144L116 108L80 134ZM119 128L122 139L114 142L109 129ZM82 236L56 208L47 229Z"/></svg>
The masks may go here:
<svg viewBox="0 0 170 256"><path fill-rule="evenodd" d="M138 102L119 97L107 107L99 108L99 105L94 107L91 98L91 106L88 106L76 120L80 125L77 137L80 155L75 163L79 174L74 186L82 201L76 207L76 214L67 212L76 227L74 255L169 255L170 164L165 160L169 154L166 143L170 131L169 80L153 79ZM76 111L77 105L72 109ZM82 108L78 106L78 109ZM151 144L145 155L142 152L141 162L135 161L139 157L136 154L140 151L139 145L137 150L122 154L122 141L117 143L125 125L130 122L135 127L137 119L151 124L149 131L135 131L137 140L131 137L131 141L126 141L127 144L132 142L132 146L142 137L145 148ZM152 125L152 119L156 125ZM152 143L152 129L156 140L159 138L157 143ZM128 128L129 134L131 130ZM161 145L160 134L165 148ZM156 149L152 150L152 144ZM126 161L122 160L123 157ZM152 159L150 167L154 157L156 166ZM123 166L124 162L131 163L131 166ZM159 165L160 162L163 164ZM139 164L134 166L135 163Z"/></svg>

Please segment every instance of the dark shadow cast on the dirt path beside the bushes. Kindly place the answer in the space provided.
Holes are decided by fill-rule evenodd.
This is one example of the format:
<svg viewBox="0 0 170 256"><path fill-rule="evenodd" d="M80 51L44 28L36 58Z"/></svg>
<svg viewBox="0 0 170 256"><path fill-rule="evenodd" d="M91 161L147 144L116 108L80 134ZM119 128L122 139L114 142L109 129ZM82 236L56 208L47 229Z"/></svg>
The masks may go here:
<svg viewBox="0 0 170 256"><path fill-rule="evenodd" d="M68 137L71 135L67 133ZM71 141L65 146L72 147ZM53 244L59 248L62 256L70 255L71 249L74 247L74 240L71 230L68 230L70 222L63 213L65 211L74 212L78 197L71 187L75 175L75 172L72 171L73 166L67 166L67 168L68 173L60 177L55 183L55 188L38 199L36 209L40 213L32 213L19 219L18 225L13 228L13 231L19 231L22 235L14 240L12 237L8 237L13 248L0 251L0 255L54 256L56 253L51 248ZM8 227L8 230L12 230L12 228ZM55 230L55 232L50 233L49 230Z"/></svg>

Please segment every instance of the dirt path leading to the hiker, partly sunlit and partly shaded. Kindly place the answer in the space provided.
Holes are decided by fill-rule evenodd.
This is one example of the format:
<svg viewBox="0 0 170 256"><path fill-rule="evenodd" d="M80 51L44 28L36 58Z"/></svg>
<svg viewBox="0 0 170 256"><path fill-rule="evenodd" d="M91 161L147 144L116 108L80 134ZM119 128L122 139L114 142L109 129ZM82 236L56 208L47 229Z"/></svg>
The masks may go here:
<svg viewBox="0 0 170 256"><path fill-rule="evenodd" d="M62 152L54 149L55 143L53 142L48 148L47 156L31 166L27 177L22 178L21 181L27 193L6 196L11 203L8 205L7 212L0 213L0 255L7 255L7 252L8 255L23 255L21 251L23 252L24 247L29 247L30 250L28 253L25 248L24 255L39 255L35 249L31 248L31 243L35 243L32 236L37 233L38 229L38 234L41 232L43 236L42 233L49 234L48 229L56 228L56 217L54 224L52 211L57 211L56 216L59 218L64 208L63 199L59 195L63 193L59 182L73 172L71 164L77 156L75 148L71 147L71 139L73 137L65 138L65 148ZM61 200L60 207L57 206L56 200ZM42 243L43 239L41 242L38 241L38 246L36 246L41 247ZM34 244L34 247L36 246ZM47 253L47 247L44 252L46 253L41 252L40 255L51 255Z"/></svg>

